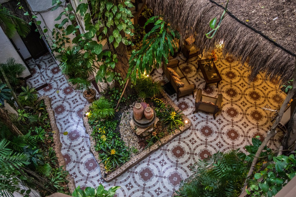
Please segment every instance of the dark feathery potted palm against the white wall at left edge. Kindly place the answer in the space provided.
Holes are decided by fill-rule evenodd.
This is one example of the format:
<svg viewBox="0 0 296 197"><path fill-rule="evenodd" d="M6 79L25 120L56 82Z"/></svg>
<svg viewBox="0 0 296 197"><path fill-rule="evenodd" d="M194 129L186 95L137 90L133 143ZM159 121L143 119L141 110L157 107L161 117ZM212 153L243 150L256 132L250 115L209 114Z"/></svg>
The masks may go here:
<svg viewBox="0 0 296 197"><path fill-rule="evenodd" d="M1 63L0 66L4 70L9 83L15 87L16 91L20 92L22 86L27 86L27 80L22 76L26 67L20 63L15 62L15 58L8 58L5 63ZM3 78L3 74L0 72L0 77Z"/></svg>

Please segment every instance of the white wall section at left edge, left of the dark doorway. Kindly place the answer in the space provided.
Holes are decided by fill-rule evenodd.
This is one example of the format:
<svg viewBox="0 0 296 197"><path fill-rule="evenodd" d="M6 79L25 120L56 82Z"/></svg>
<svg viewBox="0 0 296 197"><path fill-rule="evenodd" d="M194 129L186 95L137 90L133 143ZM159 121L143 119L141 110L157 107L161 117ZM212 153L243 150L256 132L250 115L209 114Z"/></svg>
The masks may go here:
<svg viewBox="0 0 296 197"><path fill-rule="evenodd" d="M5 62L9 57L15 58L15 61L17 63L25 65L25 63L22 61L22 58L15 50L14 46L10 42L10 40L5 35L4 31L0 27L0 46L1 46L1 53L0 53L0 61ZM25 66L26 67L26 66ZM30 71L26 67L26 70L24 71L24 74L22 77L30 76Z"/></svg>

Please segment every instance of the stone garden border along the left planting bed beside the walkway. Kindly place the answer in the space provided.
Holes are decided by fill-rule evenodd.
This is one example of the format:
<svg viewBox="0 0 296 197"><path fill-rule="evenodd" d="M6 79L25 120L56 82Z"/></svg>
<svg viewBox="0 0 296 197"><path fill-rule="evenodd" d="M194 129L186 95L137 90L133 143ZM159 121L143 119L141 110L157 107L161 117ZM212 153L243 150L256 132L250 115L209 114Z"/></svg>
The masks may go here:
<svg viewBox="0 0 296 197"><path fill-rule="evenodd" d="M61 152L62 143L59 138L59 129L57 128L57 123L55 122L54 111L52 110L50 98L48 96L41 96L38 98L38 101L40 100L44 100L44 104L46 105L46 111L48 113L48 117L50 120L50 125L52 126L52 131L55 131L53 134L53 140L55 144L54 151L56 152L56 156L58 158L57 160L59 162L59 167L63 166L63 170L66 170L66 161ZM68 187L70 193L73 193L73 191L76 188L74 178L70 174L68 174L66 179L69 181Z"/></svg>

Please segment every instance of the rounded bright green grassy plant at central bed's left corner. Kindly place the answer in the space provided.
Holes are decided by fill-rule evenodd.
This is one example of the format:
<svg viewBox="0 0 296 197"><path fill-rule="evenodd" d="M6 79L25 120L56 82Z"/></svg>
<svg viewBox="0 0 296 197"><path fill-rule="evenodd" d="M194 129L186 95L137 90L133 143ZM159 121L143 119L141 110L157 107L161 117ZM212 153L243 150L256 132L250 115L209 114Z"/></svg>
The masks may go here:
<svg viewBox="0 0 296 197"><path fill-rule="evenodd" d="M95 100L89 107L90 116L97 119L106 119L114 117L115 110L112 107L112 103L104 96L101 96L98 100Z"/></svg>

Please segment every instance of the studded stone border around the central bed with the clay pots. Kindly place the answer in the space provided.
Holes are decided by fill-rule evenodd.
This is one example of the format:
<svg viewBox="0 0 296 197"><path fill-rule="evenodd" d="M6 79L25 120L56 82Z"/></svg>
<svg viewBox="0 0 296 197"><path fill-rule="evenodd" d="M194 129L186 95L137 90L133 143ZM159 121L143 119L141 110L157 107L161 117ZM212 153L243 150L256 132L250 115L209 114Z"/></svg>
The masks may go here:
<svg viewBox="0 0 296 197"><path fill-rule="evenodd" d="M172 107L175 110L179 110L177 105L171 100L170 97L168 97L168 95L163 90L161 90L161 94L163 95L163 97L165 97L166 100L168 100L170 105L172 105ZM86 114L89 111L89 106L90 105L91 105L91 103L85 106L85 108L83 109L83 112L82 112L83 115ZM180 135L184 131L186 131L188 128L190 128L191 121L189 120L189 118L187 118L187 116L185 116L184 114L182 115L182 118L183 118L184 122L187 120L188 123L186 123L186 124L184 123L184 126L180 127L181 131L176 129L174 133L171 133L170 135L163 137L160 140L163 145L168 143L169 141L171 141L172 139L174 139L176 136ZM96 158L96 161L99 163L102 160L99 159L99 153L94 149L94 146L95 146L96 142L95 142L94 138L91 136L91 133L93 132L93 130L92 130L91 126L88 123L88 118L85 117L85 116L83 116L83 123L84 123L84 126L86 128L87 133L89 133L89 139L90 139L90 142L91 142L91 147L90 147L91 152L94 154L94 157ZM104 177L105 168L104 168L104 165L101 163L100 164L100 170L101 170L102 178L107 182L113 180L114 178L118 177L123 172L126 172L126 170L133 167L134 165L139 163L141 160L143 160L144 158L146 158L148 155L152 154L153 152L155 152L159 148L160 148L160 146L156 142L155 144L150 146L149 149L144 150L143 152L138 154L136 157L134 157L133 159L131 159L128 162L126 162L125 164L123 164L120 168L118 168L117 170L115 170L111 174L107 175L106 178Z"/></svg>

